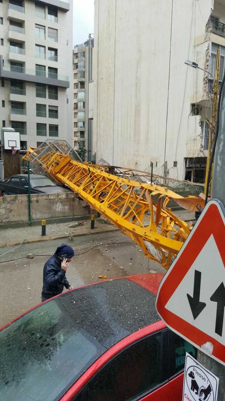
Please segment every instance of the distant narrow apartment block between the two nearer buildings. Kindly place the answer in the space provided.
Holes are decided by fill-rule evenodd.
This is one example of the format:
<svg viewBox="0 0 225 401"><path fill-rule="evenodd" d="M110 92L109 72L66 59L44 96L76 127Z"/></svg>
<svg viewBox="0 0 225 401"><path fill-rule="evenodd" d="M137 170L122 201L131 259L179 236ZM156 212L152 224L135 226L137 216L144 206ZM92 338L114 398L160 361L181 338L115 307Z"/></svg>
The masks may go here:
<svg viewBox="0 0 225 401"><path fill-rule="evenodd" d="M90 84L92 83L92 54L94 39L74 46L73 72L74 72L74 149L79 146L86 148L86 159L92 157L92 121L93 115L88 109L90 97Z"/></svg>

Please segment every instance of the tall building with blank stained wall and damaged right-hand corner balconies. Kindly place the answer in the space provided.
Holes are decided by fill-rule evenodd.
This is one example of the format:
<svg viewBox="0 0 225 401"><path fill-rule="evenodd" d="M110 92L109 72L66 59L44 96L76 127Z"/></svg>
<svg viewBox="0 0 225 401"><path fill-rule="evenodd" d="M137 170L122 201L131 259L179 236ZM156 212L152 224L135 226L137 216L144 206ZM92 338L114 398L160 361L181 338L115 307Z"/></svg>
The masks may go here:
<svg viewBox="0 0 225 401"><path fill-rule="evenodd" d="M96 0L94 15L96 160L204 182L225 0Z"/></svg>

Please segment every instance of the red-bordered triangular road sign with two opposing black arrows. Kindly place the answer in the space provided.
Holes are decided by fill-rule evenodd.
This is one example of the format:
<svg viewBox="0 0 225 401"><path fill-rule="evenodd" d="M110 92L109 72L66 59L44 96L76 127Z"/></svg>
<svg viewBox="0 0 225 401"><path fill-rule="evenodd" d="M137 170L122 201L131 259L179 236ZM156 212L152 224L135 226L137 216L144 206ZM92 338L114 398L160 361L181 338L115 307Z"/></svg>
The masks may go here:
<svg viewBox="0 0 225 401"><path fill-rule="evenodd" d="M163 277L156 299L165 324L225 365L225 209L207 203Z"/></svg>

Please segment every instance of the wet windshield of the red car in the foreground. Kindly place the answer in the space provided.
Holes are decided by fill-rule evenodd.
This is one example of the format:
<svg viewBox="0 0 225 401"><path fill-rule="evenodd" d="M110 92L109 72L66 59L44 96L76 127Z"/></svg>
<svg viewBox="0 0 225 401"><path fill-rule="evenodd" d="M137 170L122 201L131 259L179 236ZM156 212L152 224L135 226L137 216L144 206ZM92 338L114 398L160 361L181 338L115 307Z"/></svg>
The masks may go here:
<svg viewBox="0 0 225 401"><path fill-rule="evenodd" d="M58 400L106 348L58 298L0 331L0 399Z"/></svg>

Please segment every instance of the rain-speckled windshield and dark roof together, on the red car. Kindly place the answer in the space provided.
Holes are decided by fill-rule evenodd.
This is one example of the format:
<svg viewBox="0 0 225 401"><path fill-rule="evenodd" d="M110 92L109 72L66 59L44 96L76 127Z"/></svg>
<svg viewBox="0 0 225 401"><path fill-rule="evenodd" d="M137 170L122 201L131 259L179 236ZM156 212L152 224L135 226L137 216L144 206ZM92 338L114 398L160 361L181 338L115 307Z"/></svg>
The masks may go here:
<svg viewBox="0 0 225 401"><path fill-rule="evenodd" d="M65 292L0 330L0 393L55 401L110 347L160 320L163 274L110 279Z"/></svg>

